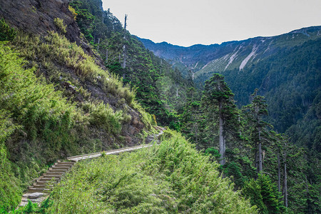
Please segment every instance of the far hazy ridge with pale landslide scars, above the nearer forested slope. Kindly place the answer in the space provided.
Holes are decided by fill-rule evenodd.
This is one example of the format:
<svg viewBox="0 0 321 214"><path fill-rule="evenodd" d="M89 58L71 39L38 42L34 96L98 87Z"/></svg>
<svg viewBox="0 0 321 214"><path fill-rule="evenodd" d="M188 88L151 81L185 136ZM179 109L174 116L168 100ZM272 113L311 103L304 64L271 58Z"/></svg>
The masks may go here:
<svg viewBox="0 0 321 214"><path fill-rule="evenodd" d="M167 59L182 71L184 76L188 76L190 70L195 74L195 78L207 73L206 78L209 78L212 71L223 73L233 68L242 70L245 66L255 63L254 58L259 61L280 49L288 49L305 41L318 39L321 36L320 30L321 26L310 26L277 36L257 36L240 41L225 41L222 44L195 44L189 47L138 39L156 56ZM249 63L251 61L253 63Z"/></svg>

